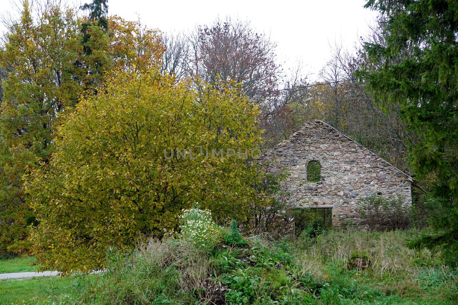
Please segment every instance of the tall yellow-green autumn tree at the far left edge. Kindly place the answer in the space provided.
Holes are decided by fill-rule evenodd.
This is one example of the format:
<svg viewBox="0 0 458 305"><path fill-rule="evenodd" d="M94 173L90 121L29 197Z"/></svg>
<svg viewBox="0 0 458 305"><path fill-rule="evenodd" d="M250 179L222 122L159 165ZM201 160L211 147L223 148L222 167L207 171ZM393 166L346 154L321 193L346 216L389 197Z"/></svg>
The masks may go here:
<svg viewBox="0 0 458 305"><path fill-rule="evenodd" d="M82 92L76 67L80 48L78 23L71 10L51 7L40 22L24 5L20 22L10 28L0 63L10 73L3 82L1 117L39 116L35 120L1 120L0 255L27 251L27 225L33 223L22 188L22 174L52 152L53 117L72 106Z"/></svg>

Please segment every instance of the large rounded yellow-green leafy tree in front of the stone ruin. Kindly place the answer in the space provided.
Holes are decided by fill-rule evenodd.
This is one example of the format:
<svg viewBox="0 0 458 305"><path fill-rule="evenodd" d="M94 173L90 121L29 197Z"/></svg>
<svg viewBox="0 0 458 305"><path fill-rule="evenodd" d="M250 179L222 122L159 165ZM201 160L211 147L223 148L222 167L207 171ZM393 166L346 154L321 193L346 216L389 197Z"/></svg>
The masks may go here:
<svg viewBox="0 0 458 305"><path fill-rule="evenodd" d="M240 90L197 95L157 68L115 74L66 115L51 160L27 177L43 268L102 269L109 247L163 236L193 202L225 219L254 200L258 109Z"/></svg>

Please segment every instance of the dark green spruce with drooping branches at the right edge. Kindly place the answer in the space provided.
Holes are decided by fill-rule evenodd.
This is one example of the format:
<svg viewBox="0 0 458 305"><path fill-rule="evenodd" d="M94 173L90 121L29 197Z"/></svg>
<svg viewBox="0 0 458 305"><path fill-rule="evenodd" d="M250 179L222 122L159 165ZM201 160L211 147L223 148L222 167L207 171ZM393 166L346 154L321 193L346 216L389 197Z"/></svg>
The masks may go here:
<svg viewBox="0 0 458 305"><path fill-rule="evenodd" d="M386 16L381 43L365 44L361 75L376 100L399 103L402 120L418 136L410 165L419 179L435 176L436 233L412 243L458 254L458 2L370 0L365 7Z"/></svg>

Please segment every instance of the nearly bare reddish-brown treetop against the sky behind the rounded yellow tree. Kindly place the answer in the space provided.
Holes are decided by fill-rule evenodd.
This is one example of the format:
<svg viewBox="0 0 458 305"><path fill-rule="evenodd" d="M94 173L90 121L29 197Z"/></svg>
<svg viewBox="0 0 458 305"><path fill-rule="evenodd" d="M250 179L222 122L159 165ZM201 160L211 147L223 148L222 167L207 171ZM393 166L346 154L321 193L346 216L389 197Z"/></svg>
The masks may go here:
<svg viewBox="0 0 458 305"><path fill-rule="evenodd" d="M218 18L211 25L197 27L189 43L189 74L193 77L208 82L233 80L247 95L272 90L276 85L277 44L256 33L249 22Z"/></svg>

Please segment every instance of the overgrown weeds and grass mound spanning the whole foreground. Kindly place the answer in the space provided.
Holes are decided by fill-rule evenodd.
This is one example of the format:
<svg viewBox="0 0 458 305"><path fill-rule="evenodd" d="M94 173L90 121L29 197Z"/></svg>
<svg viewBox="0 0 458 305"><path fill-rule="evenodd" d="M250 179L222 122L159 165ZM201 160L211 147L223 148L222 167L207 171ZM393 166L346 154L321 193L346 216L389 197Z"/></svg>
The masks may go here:
<svg viewBox="0 0 458 305"><path fill-rule="evenodd" d="M438 254L404 245L418 233L413 230L324 231L316 239L304 235L294 240L246 239L235 224L222 232L223 239L211 248L164 239L149 240L128 254L113 250L104 273L58 278L62 284L53 289L44 283L50 288L38 288L39 297L17 292L7 301L28 297L24 304L446 305L458 297L457 271L441 264ZM354 259L371 264L351 267Z"/></svg>

